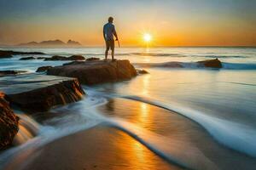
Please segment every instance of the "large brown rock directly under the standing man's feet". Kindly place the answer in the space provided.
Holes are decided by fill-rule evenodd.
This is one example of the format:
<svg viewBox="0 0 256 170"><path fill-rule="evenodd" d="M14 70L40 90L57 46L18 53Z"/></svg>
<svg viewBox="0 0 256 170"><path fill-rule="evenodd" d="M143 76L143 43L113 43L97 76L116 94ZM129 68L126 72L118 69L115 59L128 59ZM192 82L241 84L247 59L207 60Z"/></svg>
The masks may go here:
<svg viewBox="0 0 256 170"><path fill-rule="evenodd" d="M55 66L47 71L48 75L77 77L81 83L97 84L117 82L137 76L137 71L129 60L95 60L73 62L68 65Z"/></svg>

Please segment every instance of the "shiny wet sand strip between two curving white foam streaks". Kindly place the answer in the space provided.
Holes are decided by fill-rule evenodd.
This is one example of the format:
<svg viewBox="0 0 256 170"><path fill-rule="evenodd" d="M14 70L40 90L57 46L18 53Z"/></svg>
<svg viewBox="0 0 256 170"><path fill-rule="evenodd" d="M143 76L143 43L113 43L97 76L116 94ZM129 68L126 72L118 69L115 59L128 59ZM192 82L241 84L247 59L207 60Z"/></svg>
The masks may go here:
<svg viewBox="0 0 256 170"><path fill-rule="evenodd" d="M109 99L108 104L102 105L99 110L105 116L133 122L138 127L166 138L168 147L172 148L170 155L177 156L188 164L192 162L190 167L195 169L210 168L208 164L207 167L203 166L206 160L211 161L218 169L256 167L255 158L218 144L203 127L175 112L143 102L119 98ZM201 152L203 157L196 155L196 152L193 153L195 150Z"/></svg>

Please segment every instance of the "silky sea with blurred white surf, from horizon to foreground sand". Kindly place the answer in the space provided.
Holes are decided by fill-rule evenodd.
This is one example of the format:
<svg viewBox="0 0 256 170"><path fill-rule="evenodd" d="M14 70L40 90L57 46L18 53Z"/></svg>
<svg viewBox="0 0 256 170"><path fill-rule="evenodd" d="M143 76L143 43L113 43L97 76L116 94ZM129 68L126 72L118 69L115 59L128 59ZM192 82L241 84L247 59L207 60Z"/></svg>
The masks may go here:
<svg viewBox="0 0 256 170"><path fill-rule="evenodd" d="M44 52L46 57L82 54L104 58L104 48L0 49ZM0 70L35 72L39 66L68 62L19 60L26 56L42 55L0 59ZM51 114L56 116L44 121L16 111L39 133L5 150L0 160L9 161L27 148L105 123L170 165L255 169L256 48L117 48L115 58L129 59L149 74L124 82L83 86L84 99L53 109ZM197 61L216 58L223 63L222 69L196 66ZM183 68L173 66L175 63Z"/></svg>

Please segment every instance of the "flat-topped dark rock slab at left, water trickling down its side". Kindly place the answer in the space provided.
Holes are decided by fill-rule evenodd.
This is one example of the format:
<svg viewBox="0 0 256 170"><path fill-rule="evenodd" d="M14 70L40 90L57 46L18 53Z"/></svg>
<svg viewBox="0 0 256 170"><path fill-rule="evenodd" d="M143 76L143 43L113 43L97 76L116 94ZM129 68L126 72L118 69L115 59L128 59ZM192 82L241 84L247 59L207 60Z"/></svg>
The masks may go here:
<svg viewBox="0 0 256 170"><path fill-rule="evenodd" d="M66 105L82 99L84 94L76 78L26 74L0 77L0 90L12 105L33 113L48 111L56 105Z"/></svg>

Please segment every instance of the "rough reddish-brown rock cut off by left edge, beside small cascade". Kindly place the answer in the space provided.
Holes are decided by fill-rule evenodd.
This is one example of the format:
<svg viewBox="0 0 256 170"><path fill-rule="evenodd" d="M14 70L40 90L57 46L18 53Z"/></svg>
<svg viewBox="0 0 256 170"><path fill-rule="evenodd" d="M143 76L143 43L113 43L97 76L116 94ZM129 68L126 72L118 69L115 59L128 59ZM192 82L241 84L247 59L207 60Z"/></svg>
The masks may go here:
<svg viewBox="0 0 256 170"><path fill-rule="evenodd" d="M5 94L0 92L0 150L12 144L18 133L19 117L10 109Z"/></svg>

